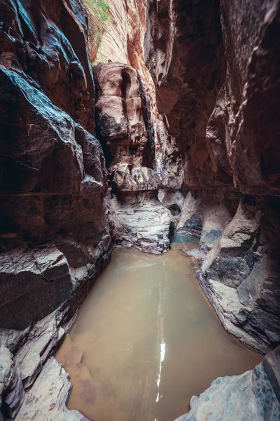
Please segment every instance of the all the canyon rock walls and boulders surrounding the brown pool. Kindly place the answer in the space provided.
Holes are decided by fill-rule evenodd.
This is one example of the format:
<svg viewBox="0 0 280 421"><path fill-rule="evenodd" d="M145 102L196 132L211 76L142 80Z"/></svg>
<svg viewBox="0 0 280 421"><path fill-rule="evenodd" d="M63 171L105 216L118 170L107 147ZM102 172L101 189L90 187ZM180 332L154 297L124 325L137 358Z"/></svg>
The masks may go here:
<svg viewBox="0 0 280 421"><path fill-rule="evenodd" d="M91 54L82 0L0 7L4 415L85 420L66 410L70 385L51 357L112 246L162 253L175 227L200 237L190 254L225 328L276 348L279 1L109 1ZM278 361L217 380L184 419L241 383L246 419L262 419L261 387L278 419Z"/></svg>

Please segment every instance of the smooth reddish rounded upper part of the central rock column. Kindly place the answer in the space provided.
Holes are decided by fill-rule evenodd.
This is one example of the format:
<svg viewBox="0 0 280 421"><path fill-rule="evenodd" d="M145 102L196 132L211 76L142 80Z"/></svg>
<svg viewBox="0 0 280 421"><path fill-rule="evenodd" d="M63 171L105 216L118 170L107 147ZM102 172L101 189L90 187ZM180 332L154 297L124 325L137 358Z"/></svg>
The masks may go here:
<svg viewBox="0 0 280 421"><path fill-rule="evenodd" d="M94 76L99 86L97 133L107 163L151 167L155 148L151 112L139 74L128 65L109 62L94 68Z"/></svg>

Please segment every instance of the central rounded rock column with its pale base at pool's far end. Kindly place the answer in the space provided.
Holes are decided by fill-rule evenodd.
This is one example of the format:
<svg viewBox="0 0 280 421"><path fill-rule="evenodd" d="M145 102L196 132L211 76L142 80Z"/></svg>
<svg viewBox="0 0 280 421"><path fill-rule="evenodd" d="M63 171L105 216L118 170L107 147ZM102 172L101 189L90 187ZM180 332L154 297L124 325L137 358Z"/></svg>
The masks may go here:
<svg viewBox="0 0 280 421"><path fill-rule="evenodd" d="M137 70L119 62L94 67L97 135L109 169L113 235L118 246L150 253L169 248L172 215L158 201L150 101Z"/></svg>

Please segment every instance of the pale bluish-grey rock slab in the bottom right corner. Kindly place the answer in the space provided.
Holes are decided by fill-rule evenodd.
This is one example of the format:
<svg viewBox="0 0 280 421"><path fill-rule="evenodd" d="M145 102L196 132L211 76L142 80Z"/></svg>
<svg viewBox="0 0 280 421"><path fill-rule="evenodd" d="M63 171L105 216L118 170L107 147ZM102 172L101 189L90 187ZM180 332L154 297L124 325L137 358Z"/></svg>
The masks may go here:
<svg viewBox="0 0 280 421"><path fill-rule="evenodd" d="M277 421L280 403L261 363L254 370L218 377L190 412L176 421Z"/></svg>

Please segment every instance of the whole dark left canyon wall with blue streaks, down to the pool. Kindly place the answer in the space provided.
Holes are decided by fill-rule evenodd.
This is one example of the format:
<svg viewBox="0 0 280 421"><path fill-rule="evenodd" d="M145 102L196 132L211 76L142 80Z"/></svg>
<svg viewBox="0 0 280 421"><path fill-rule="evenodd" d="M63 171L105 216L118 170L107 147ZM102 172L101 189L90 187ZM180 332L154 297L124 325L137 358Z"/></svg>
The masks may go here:
<svg viewBox="0 0 280 421"><path fill-rule="evenodd" d="M1 0L0 15L0 393L14 417L109 260L111 236L82 1Z"/></svg>

